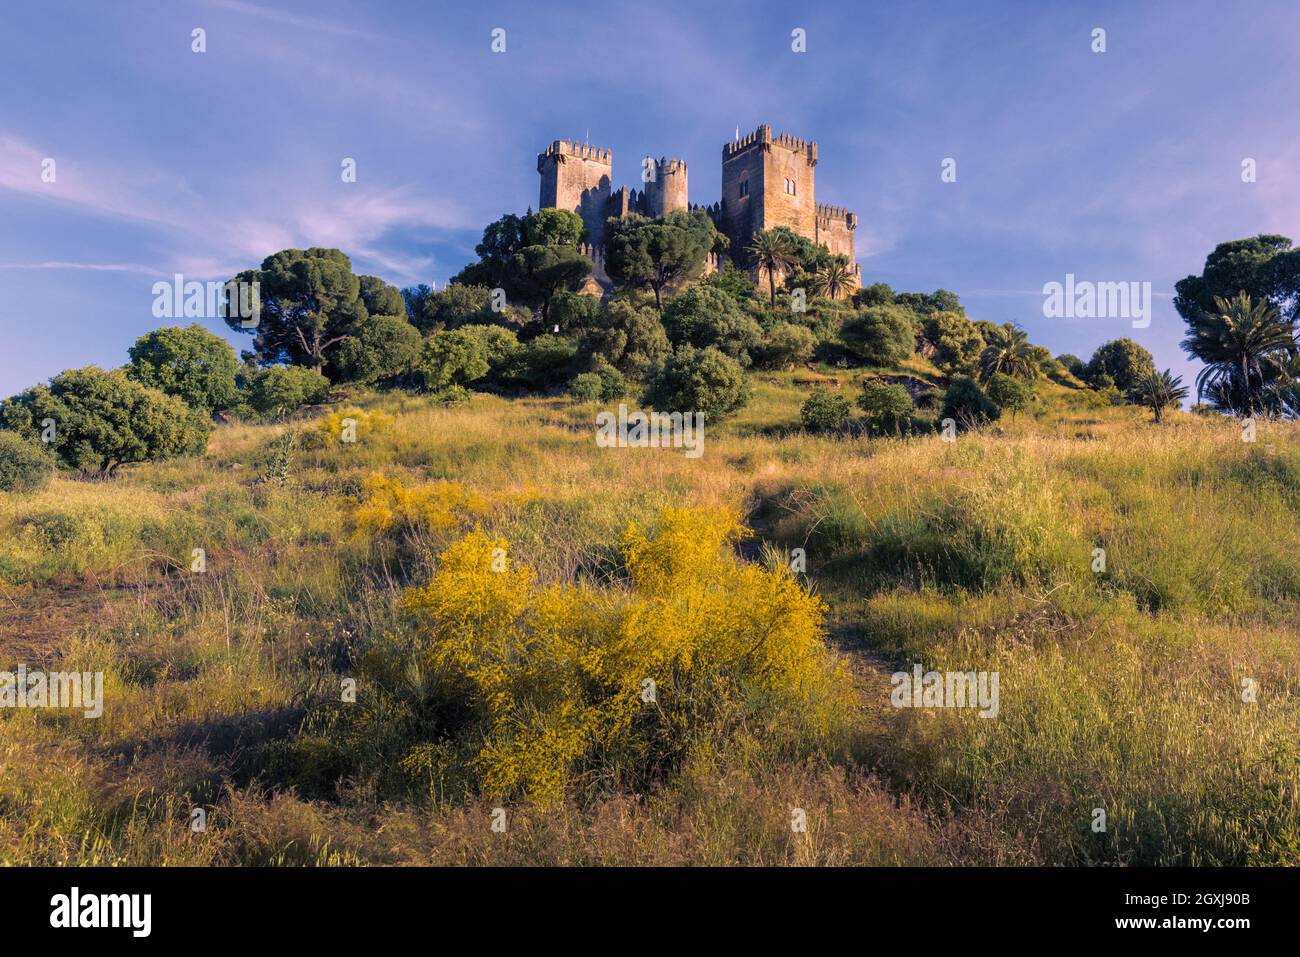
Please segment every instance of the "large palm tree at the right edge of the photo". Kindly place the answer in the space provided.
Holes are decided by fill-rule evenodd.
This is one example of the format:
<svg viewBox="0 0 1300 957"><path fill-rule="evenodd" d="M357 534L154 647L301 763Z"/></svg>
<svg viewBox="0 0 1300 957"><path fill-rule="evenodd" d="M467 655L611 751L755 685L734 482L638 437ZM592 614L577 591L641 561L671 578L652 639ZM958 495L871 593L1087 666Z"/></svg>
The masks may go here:
<svg viewBox="0 0 1300 957"><path fill-rule="evenodd" d="M1291 381L1290 365L1300 351L1295 322L1268 300L1252 304L1247 293L1231 300L1214 296L1214 308L1197 317L1182 346L1205 363L1196 377L1197 398L1217 395L1248 416L1264 412Z"/></svg>

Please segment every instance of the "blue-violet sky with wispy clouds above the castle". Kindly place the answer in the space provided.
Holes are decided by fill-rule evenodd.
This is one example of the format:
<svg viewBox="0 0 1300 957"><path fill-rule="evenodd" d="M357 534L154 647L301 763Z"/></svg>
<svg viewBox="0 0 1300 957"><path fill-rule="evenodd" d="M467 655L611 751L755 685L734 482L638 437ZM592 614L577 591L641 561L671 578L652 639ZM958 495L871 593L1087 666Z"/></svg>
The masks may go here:
<svg viewBox="0 0 1300 957"><path fill-rule="evenodd" d="M176 273L337 246L441 287L484 225L537 205L554 139L612 150L615 185L677 156L711 204L723 144L764 122L818 142L863 282L950 289L1056 354L1128 335L1190 381L1174 283L1219 242L1300 239L1297 36L1295 0L10 0L0 395L186 324L151 311ZM1150 282L1150 325L1044 316L1066 274Z"/></svg>

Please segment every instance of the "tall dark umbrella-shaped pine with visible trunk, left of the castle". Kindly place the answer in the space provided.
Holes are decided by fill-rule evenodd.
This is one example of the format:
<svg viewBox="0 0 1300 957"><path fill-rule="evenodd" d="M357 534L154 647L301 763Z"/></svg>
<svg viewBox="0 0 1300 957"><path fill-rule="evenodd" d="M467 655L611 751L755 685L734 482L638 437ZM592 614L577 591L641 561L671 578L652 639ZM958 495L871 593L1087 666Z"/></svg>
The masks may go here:
<svg viewBox="0 0 1300 957"><path fill-rule="evenodd" d="M266 256L260 269L239 273L235 282L260 286L257 326L244 329L239 316L226 324L255 333L254 350L263 365L289 361L321 372L328 352L368 315L361 281L339 250L282 250Z"/></svg>

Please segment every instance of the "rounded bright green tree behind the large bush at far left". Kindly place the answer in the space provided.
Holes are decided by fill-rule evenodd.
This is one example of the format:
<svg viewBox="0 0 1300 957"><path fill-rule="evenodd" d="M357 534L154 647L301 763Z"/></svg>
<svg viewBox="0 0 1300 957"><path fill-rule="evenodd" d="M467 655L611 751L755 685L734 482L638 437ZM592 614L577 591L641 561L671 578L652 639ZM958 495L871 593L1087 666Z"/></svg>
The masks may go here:
<svg viewBox="0 0 1300 957"><path fill-rule="evenodd" d="M194 324L146 333L127 350L126 374L176 395L190 408L216 412L235 400L239 360L225 339Z"/></svg>

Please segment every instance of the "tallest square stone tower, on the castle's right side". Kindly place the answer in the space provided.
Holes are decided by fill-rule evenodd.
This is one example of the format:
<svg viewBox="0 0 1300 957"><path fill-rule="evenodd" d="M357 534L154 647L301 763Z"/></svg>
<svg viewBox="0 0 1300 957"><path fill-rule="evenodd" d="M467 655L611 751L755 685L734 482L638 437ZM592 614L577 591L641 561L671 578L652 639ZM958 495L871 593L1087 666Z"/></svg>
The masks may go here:
<svg viewBox="0 0 1300 957"><path fill-rule="evenodd" d="M785 226L816 237L815 166L816 143L784 133L774 137L767 124L723 147L722 229L733 259L745 257L758 230Z"/></svg>

